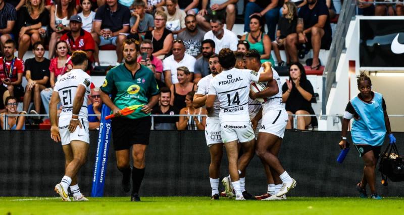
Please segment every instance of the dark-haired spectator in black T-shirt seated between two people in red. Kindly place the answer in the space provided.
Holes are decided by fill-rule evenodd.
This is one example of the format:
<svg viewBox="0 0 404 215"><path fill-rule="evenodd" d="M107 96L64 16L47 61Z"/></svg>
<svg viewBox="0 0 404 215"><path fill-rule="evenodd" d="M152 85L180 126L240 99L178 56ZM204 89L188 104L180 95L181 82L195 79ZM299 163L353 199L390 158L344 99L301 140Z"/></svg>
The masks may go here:
<svg viewBox="0 0 404 215"><path fill-rule="evenodd" d="M25 78L27 86L25 88L23 111L27 112L31 103L32 94L34 96L34 110L30 114L39 114L41 110L41 91L50 87L49 85L49 64L50 60L43 57L45 48L42 43L33 44L32 52L35 57L25 61Z"/></svg>

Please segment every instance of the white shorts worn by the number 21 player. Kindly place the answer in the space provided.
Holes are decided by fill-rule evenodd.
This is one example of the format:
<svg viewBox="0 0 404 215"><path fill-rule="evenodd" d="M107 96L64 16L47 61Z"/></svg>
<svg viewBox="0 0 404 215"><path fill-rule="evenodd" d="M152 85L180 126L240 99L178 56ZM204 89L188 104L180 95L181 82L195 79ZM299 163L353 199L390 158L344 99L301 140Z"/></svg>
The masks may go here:
<svg viewBox="0 0 404 215"><path fill-rule="evenodd" d="M70 144L72 140L80 140L90 143L90 136L88 132L88 120L79 118L81 122L81 128L77 126L73 133L68 130L70 118L59 119L59 133L62 139L62 146Z"/></svg>

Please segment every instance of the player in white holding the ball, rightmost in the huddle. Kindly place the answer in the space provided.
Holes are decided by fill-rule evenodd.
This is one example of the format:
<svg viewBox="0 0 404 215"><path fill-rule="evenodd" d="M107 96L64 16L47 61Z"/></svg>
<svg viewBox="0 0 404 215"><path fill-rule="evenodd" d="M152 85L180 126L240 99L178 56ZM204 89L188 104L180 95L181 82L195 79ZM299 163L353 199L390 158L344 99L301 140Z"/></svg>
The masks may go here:
<svg viewBox="0 0 404 215"><path fill-rule="evenodd" d="M251 69L261 67L260 54L257 50L247 51L246 65ZM258 93L250 92L252 99L267 98L267 101L263 103L263 117L256 153L270 167L275 182L275 195L262 200L284 199L284 194L296 186L296 181L289 176L278 160L278 152L285 133L288 114L282 104L282 85L279 75L275 70L272 71L273 80L267 83L267 89Z"/></svg>

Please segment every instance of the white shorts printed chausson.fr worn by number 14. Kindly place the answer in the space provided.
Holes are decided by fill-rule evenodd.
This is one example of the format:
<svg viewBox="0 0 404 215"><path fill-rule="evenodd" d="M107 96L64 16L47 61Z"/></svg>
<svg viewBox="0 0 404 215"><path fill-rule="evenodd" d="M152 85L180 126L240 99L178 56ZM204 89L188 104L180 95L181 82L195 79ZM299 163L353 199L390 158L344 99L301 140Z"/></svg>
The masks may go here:
<svg viewBox="0 0 404 215"><path fill-rule="evenodd" d="M237 139L238 142L248 142L255 138L250 121L222 122L220 128L222 130L223 143Z"/></svg>

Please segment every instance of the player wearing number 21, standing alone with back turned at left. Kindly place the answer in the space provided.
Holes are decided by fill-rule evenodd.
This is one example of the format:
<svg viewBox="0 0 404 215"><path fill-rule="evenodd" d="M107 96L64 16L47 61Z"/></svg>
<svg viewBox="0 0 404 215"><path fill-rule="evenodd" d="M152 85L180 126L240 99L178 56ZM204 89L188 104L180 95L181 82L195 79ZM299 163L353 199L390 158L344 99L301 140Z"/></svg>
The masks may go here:
<svg viewBox="0 0 404 215"><path fill-rule="evenodd" d="M89 146L87 99L90 93L91 77L84 70L87 54L75 51L71 61L73 69L58 78L49 103L51 138L62 142L65 154L65 176L55 186L63 201L70 201L68 187L73 193L73 201L88 201L77 185L77 172L84 165ZM62 103L62 112L57 124L57 105Z"/></svg>

